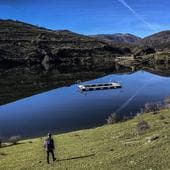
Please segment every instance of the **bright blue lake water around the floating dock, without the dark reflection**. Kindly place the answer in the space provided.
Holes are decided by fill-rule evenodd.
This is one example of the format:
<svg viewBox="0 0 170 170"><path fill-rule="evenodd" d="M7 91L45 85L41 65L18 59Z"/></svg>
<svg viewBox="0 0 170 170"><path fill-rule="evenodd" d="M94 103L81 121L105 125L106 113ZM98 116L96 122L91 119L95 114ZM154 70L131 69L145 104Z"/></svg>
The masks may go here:
<svg viewBox="0 0 170 170"><path fill-rule="evenodd" d="M135 114L147 102L170 96L170 78L146 71L109 74L85 81L119 81L121 89L80 92L76 84L0 106L0 136L25 138L91 128L106 123L114 112Z"/></svg>

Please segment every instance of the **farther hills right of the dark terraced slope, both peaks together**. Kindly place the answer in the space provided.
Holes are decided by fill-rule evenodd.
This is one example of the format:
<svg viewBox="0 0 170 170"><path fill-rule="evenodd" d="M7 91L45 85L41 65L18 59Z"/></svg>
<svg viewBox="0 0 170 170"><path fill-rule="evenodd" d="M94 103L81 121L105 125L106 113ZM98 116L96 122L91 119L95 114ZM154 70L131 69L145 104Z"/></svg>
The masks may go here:
<svg viewBox="0 0 170 170"><path fill-rule="evenodd" d="M170 51L170 30L158 32L145 38L140 38L131 34L99 34L92 36L103 42L108 42L128 46L132 54L142 56L157 51Z"/></svg>

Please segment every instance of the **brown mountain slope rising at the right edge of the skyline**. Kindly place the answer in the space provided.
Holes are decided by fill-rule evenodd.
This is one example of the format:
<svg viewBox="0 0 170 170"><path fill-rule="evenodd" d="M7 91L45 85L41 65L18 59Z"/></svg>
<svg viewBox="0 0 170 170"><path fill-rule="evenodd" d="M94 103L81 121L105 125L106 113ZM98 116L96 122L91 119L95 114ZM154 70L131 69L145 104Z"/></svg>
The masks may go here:
<svg viewBox="0 0 170 170"><path fill-rule="evenodd" d="M145 37L137 42L138 45L147 45L156 50L170 50L170 30L162 31L151 36Z"/></svg>

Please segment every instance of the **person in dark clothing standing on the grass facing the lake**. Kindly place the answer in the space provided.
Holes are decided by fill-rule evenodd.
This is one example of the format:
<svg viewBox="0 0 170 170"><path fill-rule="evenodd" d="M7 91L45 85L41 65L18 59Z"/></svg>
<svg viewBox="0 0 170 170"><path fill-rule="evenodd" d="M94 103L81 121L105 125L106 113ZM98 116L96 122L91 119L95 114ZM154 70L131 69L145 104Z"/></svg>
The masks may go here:
<svg viewBox="0 0 170 170"><path fill-rule="evenodd" d="M55 149L55 145L54 145L54 140L52 138L52 135L51 133L48 133L48 137L47 139L44 141L44 148L47 152L47 163L49 164L50 161L49 161L49 156L50 156L50 153L52 155L52 158L53 158L53 161L56 160L55 156L54 156L54 149Z"/></svg>

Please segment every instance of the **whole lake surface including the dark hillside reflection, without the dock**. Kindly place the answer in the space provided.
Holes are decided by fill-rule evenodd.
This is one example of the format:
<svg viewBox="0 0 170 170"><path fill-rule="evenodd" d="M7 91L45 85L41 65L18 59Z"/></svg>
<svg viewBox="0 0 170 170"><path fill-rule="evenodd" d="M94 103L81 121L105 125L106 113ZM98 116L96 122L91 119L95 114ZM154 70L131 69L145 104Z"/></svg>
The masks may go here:
<svg viewBox="0 0 170 170"><path fill-rule="evenodd" d="M82 68L82 72L76 69L71 72L63 68L62 71L57 69L48 72L33 69L25 70L23 74L22 68L19 68L15 72L3 72L0 76L1 81L3 80L1 94L9 92L13 98L10 100L10 95L7 95L4 98L6 100L1 99L1 103L24 95L30 96L44 89L64 87L0 106L0 136L33 137L45 135L49 130L59 133L95 127L106 123L106 118L115 111L120 115L137 113L145 103L162 101L165 96L170 96L169 77L145 71L131 72L131 68L122 68L122 71L121 67L119 69L94 68L89 71L89 68ZM16 84L11 85L14 76ZM120 81L123 87L81 93L75 84L79 79L94 79L84 82L85 84ZM17 84L21 81L22 83Z"/></svg>

